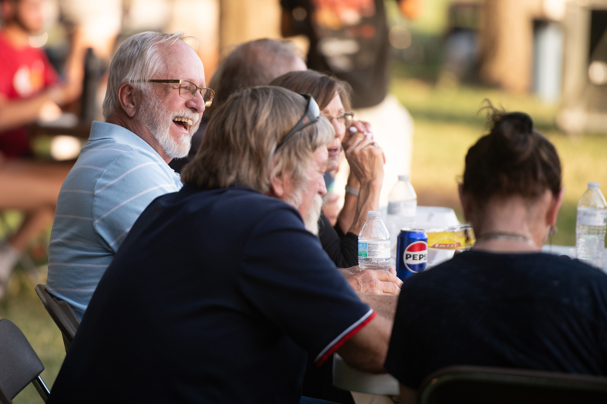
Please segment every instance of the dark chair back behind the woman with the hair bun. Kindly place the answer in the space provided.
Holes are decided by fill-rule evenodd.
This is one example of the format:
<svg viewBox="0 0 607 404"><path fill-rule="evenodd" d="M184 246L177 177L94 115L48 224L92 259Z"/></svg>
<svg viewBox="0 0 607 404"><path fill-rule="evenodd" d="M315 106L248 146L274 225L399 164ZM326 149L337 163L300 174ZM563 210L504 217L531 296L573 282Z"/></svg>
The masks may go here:
<svg viewBox="0 0 607 404"><path fill-rule="evenodd" d="M419 388L418 403L607 403L607 377L484 366L449 366L424 380Z"/></svg>

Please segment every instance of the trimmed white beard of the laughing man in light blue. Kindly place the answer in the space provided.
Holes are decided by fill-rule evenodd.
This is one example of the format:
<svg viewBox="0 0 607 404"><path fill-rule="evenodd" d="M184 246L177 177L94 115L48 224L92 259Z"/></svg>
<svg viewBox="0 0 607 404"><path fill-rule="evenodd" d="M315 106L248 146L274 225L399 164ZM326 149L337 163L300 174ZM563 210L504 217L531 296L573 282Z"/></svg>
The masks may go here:
<svg viewBox="0 0 607 404"><path fill-rule="evenodd" d="M173 119L177 116L188 118L194 121L194 124L188 130L189 136L180 136L175 140L169 133L169 129ZM196 133L198 126L200 126L197 114L191 110L168 111L155 96L144 98L137 119L148 128L164 153L170 158L181 158L188 155L192 144L192 135Z"/></svg>

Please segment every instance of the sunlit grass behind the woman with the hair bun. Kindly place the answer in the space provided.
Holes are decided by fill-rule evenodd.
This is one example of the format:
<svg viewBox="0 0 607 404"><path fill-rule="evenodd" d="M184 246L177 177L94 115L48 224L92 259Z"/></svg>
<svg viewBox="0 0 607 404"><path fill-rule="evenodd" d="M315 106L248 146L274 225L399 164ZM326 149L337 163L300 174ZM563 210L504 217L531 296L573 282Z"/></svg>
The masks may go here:
<svg viewBox="0 0 607 404"><path fill-rule="evenodd" d="M392 92L415 121L412 184L419 190L420 204L453 207L461 217L457 183L466 152L486 133L486 114L478 110L484 99L509 111L529 113L535 127L557 148L563 166L565 199L561 207L554 244L575 244L575 215L578 199L588 181L607 186L607 136L568 136L557 130L557 106L543 104L531 95L513 95L498 89L461 86L439 88L419 79L405 78L395 69Z"/></svg>

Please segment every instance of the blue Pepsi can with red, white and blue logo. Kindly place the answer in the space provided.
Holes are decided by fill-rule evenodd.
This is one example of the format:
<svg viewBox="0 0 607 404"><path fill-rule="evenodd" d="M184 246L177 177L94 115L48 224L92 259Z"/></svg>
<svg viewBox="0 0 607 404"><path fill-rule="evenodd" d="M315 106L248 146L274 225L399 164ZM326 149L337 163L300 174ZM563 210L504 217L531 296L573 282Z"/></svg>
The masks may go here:
<svg viewBox="0 0 607 404"><path fill-rule="evenodd" d="M424 229L401 229L396 243L396 275L401 280L426 271L428 235Z"/></svg>

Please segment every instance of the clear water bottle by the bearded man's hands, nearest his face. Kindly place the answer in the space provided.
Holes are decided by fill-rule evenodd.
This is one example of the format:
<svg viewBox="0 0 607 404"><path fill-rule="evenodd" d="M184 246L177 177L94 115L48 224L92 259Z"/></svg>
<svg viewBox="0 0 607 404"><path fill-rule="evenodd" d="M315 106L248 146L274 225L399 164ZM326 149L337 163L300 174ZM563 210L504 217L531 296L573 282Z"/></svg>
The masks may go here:
<svg viewBox="0 0 607 404"><path fill-rule="evenodd" d="M369 210L369 218L358 234L358 266L385 269L390 266L390 233L381 220L381 211Z"/></svg>

